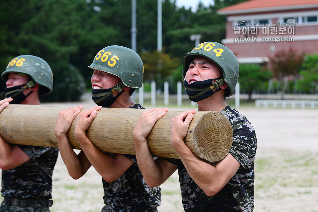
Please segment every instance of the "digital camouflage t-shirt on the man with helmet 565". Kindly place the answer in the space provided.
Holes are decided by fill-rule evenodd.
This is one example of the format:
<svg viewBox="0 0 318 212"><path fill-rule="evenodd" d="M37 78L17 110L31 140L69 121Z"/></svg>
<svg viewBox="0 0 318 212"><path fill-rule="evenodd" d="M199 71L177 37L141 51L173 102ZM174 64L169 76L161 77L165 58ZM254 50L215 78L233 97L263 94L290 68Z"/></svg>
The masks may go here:
<svg viewBox="0 0 318 212"><path fill-rule="evenodd" d="M129 108L144 109L139 104ZM108 153L107 153L108 154ZM115 154L109 154L114 157ZM137 165L135 155L125 154L134 161L124 174L113 182L103 180L105 206L101 212L153 212L161 204L160 187L149 188Z"/></svg>

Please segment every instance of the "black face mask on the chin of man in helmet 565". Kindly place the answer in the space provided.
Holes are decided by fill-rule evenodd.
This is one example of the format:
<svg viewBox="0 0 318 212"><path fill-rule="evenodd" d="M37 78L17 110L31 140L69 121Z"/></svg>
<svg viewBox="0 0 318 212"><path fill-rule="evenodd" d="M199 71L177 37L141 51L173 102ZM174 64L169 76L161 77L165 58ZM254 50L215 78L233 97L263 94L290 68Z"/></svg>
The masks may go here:
<svg viewBox="0 0 318 212"><path fill-rule="evenodd" d="M102 107L110 107L117 97L124 92L122 88L125 85L123 83L120 83L112 88L109 89L101 89L101 90L94 90L92 89L92 99L95 102L96 105L102 106ZM119 91L119 94L114 97L113 93Z"/></svg>

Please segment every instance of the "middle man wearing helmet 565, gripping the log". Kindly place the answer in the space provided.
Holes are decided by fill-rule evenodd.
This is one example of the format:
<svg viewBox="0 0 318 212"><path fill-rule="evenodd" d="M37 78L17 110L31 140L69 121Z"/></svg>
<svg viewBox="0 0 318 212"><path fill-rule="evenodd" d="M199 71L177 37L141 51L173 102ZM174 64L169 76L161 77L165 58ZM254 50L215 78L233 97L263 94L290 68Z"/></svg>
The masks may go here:
<svg viewBox="0 0 318 212"><path fill-rule="evenodd" d="M103 181L102 212L155 212L161 202L161 190L144 183L135 155L104 153L86 136L101 107L143 109L131 99L135 89L142 86L142 60L135 51L114 45L100 50L88 67L93 69L92 99L98 106L82 113L82 106L66 109L60 112L56 122L55 135L67 170L78 179L93 165ZM75 154L66 136L76 116L74 135L83 149L79 154Z"/></svg>

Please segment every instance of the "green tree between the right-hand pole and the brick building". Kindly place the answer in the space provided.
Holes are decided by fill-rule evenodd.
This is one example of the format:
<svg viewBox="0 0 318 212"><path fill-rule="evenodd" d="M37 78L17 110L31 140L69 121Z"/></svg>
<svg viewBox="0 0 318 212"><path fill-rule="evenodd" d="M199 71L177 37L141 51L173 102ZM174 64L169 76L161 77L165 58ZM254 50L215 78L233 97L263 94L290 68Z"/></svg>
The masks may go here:
<svg viewBox="0 0 318 212"><path fill-rule="evenodd" d="M201 4L195 13L179 8L175 12L166 11L163 16L167 17L163 44L173 57L183 58L195 46L190 40L192 34L200 34L202 42L221 42L225 36L225 17L217 15L213 6Z"/></svg>

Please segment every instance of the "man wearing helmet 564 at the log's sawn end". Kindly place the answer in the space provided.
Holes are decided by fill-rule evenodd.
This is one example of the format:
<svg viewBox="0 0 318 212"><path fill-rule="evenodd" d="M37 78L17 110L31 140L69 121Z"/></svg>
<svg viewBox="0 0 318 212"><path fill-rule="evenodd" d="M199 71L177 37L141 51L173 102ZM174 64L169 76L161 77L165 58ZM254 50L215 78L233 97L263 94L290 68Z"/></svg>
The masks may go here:
<svg viewBox="0 0 318 212"><path fill-rule="evenodd" d="M183 142L195 110L181 113L170 124L170 142L180 159L151 160L146 136L166 108L147 110L137 120L133 138L145 182L159 186L178 170L185 211L253 211L256 134L250 121L225 101L238 78L238 60L222 44L204 42L184 56L182 79L190 100L199 111L222 113L232 125L232 147L220 161L197 158Z"/></svg>

